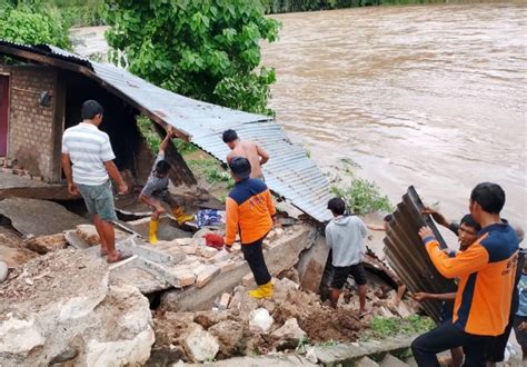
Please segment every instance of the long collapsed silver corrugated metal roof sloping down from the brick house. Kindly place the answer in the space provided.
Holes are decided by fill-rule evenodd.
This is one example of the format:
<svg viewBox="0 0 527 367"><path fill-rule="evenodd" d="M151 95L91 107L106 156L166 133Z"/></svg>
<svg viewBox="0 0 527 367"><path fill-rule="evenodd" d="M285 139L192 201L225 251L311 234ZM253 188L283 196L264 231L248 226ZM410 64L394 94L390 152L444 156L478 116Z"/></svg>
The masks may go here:
<svg viewBox="0 0 527 367"><path fill-rule="evenodd" d="M235 129L242 140L253 140L270 155L264 168L269 188L278 196L314 219L324 222L331 218L327 208L329 182L306 151L294 146L281 127L267 116L247 113L197 101L156 87L115 66L88 61L56 47L0 44L44 54L62 61L86 66L92 78L111 86L136 106L142 107L160 120L191 136L191 142L226 162L228 147L221 140L226 129ZM6 49L4 49L6 50Z"/></svg>

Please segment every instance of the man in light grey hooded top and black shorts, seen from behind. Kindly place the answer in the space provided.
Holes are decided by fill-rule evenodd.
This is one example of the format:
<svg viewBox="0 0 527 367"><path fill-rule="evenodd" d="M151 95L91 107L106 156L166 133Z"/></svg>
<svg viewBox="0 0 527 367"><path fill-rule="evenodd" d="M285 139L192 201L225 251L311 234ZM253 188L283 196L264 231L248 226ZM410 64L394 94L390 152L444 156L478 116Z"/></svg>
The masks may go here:
<svg viewBox="0 0 527 367"><path fill-rule="evenodd" d="M346 204L342 199L329 200L328 209L334 215L334 219L326 226L326 244L331 249L334 266L329 299L331 306L337 308L342 287L351 275L359 290L359 316L361 317L368 314L366 311L366 271L362 266L368 231L359 217L345 216Z"/></svg>

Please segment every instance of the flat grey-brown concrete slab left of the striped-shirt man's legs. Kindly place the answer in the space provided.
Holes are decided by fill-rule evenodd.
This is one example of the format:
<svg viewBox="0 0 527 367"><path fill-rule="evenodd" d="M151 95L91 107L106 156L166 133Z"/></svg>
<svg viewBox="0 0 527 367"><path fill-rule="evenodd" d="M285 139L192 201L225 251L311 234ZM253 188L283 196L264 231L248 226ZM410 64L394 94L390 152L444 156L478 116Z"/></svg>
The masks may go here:
<svg viewBox="0 0 527 367"><path fill-rule="evenodd" d="M46 200L8 198L0 201L0 214L24 236L47 236L86 224L87 220L61 205Z"/></svg>

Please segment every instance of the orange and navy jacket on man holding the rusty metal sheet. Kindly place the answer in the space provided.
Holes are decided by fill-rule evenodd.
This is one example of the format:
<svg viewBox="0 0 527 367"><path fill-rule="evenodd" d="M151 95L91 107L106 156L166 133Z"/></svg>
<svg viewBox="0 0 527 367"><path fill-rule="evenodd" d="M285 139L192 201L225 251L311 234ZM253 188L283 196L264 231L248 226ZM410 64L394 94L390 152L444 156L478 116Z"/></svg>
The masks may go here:
<svg viewBox="0 0 527 367"><path fill-rule="evenodd" d="M453 258L434 237L424 242L437 270L446 278L459 278L454 325L468 334L497 336L509 320L518 238L507 224L485 227L478 236L475 244Z"/></svg>

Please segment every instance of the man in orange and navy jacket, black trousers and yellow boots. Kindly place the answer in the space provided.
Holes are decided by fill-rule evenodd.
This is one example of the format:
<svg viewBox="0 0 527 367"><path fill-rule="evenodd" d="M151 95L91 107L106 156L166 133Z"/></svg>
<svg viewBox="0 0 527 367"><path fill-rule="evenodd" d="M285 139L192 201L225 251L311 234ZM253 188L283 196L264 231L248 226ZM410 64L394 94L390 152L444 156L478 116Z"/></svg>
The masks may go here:
<svg viewBox="0 0 527 367"><path fill-rule="evenodd" d="M270 298L271 276L261 246L275 221L276 209L271 194L264 181L250 178L251 167L247 158L233 157L229 161L229 168L236 184L226 202L226 249L230 251L239 231L243 258L258 285L257 289L249 291L249 296Z"/></svg>

